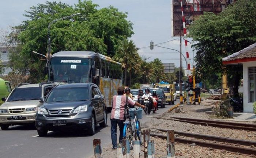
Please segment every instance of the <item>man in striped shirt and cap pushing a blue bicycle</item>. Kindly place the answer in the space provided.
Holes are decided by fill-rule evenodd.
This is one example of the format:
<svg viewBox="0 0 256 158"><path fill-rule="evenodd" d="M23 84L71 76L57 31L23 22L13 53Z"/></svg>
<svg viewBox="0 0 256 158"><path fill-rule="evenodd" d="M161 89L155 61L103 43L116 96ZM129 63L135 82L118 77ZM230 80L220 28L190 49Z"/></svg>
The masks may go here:
<svg viewBox="0 0 256 158"><path fill-rule="evenodd" d="M130 104L131 106L138 106L144 108L144 105L139 104L136 101L133 101L130 97L124 95L124 88L118 87L117 94L113 97L112 102L112 111L111 111L111 140L113 149L117 149L117 124L119 127L119 143L123 139L123 128L124 128L124 113L125 113L125 104Z"/></svg>

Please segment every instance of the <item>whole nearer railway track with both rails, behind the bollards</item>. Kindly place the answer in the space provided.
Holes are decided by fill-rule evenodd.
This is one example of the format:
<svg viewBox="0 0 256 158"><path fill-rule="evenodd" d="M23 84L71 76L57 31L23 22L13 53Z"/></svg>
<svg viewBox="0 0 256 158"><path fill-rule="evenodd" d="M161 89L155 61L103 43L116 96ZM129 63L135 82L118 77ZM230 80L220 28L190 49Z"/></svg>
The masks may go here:
<svg viewBox="0 0 256 158"><path fill-rule="evenodd" d="M151 128L151 127L143 127L143 128L149 128L149 129L154 129L154 130L159 130L162 132L166 132L168 130L164 129L158 129L158 128ZM193 139L185 139L185 138L179 138L175 137L175 141L179 143L184 143L184 144L192 144L195 143L196 145L202 146L202 147L210 147L212 149L219 149L219 150L226 150L232 153L237 153L237 154L243 154L243 155L248 155L251 157L255 157L256 155L256 149L250 149L248 147L252 147L256 145L256 142L253 141L248 141L248 140L240 140L240 139L231 139L231 138L225 138L225 137L219 137L219 136L211 136L211 135L201 135L201 134L191 134L187 132L177 132L175 131L174 134L178 134L180 136L187 136L191 138L197 138L197 139L202 139L203 141L199 140L193 140ZM166 135L159 135L159 134L153 134L150 133L151 136L158 136L159 138L166 139ZM205 141L207 140L207 141ZM210 141L210 142L209 142ZM220 144L221 143L233 143L233 145L226 145L226 144ZM241 146L246 146L246 147L240 147L237 145Z"/></svg>

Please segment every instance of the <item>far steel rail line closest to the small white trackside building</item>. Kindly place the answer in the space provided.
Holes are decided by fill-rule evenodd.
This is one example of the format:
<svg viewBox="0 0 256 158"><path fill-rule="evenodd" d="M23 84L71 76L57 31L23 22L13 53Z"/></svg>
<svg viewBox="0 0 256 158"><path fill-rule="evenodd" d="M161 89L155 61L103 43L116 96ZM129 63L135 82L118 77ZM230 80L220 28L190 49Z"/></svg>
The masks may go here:
<svg viewBox="0 0 256 158"><path fill-rule="evenodd" d="M179 122L187 122L192 124L201 124L203 126L212 126L212 127L221 127L221 128L230 128L230 129L236 129L236 130L248 130L248 131L256 131L255 127L244 127L244 126L233 126L229 124L220 124L220 123L210 123L205 120L204 122L198 122L198 121L192 121L192 120L182 120L182 119L167 119L163 117L153 117L155 119L163 119L163 120L172 120L172 121L179 121Z"/></svg>

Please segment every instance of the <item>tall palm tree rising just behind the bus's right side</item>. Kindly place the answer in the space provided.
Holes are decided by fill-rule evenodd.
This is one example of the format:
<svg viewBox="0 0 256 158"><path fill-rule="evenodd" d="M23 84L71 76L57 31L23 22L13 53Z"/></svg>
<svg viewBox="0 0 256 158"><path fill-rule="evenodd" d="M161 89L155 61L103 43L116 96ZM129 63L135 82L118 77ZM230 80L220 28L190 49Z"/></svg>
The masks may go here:
<svg viewBox="0 0 256 158"><path fill-rule="evenodd" d="M118 48L117 53L113 57L113 59L122 63L122 66L124 68L124 85L127 85L127 71L129 70L131 72L133 66L136 64L136 60L138 60L136 59L138 58L137 50L139 49L136 48L132 40L128 41L128 39L125 39L122 42L122 45Z"/></svg>

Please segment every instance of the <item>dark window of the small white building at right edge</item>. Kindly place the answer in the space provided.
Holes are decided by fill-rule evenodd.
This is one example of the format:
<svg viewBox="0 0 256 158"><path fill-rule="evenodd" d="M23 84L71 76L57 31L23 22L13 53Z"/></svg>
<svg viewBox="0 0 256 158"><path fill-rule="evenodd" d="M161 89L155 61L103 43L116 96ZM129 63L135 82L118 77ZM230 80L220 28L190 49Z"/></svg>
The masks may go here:
<svg viewBox="0 0 256 158"><path fill-rule="evenodd" d="M248 90L249 90L249 103L256 100L256 67L248 68Z"/></svg>

